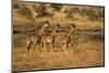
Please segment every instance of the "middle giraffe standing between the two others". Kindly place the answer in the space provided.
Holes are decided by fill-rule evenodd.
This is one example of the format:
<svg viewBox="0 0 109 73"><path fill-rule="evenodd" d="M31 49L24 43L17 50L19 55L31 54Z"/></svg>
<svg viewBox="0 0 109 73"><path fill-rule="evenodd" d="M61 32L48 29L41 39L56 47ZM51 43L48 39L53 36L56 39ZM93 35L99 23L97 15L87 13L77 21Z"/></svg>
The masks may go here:
<svg viewBox="0 0 109 73"><path fill-rule="evenodd" d="M47 46L50 47L50 50L53 48L55 36L57 34L58 27L59 27L59 24L55 25L55 28L51 31L51 33L45 33L43 35L44 50L46 50Z"/></svg>

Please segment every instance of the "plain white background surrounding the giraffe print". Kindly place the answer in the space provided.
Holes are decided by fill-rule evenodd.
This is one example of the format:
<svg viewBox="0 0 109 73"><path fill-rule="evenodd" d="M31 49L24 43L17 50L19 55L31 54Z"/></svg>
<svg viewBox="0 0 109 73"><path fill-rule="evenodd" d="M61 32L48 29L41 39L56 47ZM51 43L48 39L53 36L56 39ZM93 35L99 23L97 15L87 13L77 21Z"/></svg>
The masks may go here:
<svg viewBox="0 0 109 73"><path fill-rule="evenodd" d="M73 69L45 71L45 73L108 73L109 69L109 0L37 0L75 4L94 4L106 7L106 66L92 69ZM0 1L0 73L11 73L11 0ZM44 71L41 71L44 72ZM32 73L32 72L29 72Z"/></svg>

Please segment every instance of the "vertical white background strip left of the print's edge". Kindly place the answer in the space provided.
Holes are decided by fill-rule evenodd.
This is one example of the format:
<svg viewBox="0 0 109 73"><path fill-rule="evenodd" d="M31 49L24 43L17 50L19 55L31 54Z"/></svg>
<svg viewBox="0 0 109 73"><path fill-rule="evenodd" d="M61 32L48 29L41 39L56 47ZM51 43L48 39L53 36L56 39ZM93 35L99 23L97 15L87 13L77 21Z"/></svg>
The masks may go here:
<svg viewBox="0 0 109 73"><path fill-rule="evenodd" d="M0 1L0 73L11 70L11 0Z"/></svg>

